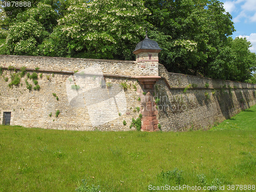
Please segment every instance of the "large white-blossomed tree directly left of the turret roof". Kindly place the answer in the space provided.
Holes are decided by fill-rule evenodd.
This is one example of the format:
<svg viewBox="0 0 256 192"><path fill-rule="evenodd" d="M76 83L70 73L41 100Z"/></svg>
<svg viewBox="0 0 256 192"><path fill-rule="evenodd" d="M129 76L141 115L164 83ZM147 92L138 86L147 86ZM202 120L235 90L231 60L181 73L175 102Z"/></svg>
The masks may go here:
<svg viewBox="0 0 256 192"><path fill-rule="evenodd" d="M69 37L71 54L88 58L131 59L132 49L142 40L150 12L141 0L75 1L58 20Z"/></svg>

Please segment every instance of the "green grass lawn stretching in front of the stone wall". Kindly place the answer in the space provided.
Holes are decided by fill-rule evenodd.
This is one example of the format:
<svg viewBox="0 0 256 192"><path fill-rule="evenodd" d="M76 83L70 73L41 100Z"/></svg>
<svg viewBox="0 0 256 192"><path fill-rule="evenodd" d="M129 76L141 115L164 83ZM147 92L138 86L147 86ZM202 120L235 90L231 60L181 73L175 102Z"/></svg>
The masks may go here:
<svg viewBox="0 0 256 192"><path fill-rule="evenodd" d="M0 125L0 191L141 192L165 184L242 191L226 189L256 184L255 117L254 105L209 131L181 133Z"/></svg>

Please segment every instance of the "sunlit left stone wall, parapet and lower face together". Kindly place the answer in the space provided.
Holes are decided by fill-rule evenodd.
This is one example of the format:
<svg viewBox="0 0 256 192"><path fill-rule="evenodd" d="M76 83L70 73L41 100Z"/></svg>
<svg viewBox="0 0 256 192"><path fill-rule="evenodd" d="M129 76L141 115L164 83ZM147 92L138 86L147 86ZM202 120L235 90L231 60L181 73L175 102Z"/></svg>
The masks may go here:
<svg viewBox="0 0 256 192"><path fill-rule="evenodd" d="M38 74L40 89L29 91L26 75L18 86L9 88L11 74L15 73L6 69L9 66L40 68L27 71ZM141 67L134 61L117 60L1 55L0 67L5 68L0 76L0 122L3 122L4 112L11 112L12 125L45 129L130 130L132 118L139 116L138 97L143 91L134 78L104 77L103 86L103 73L127 77L148 73L158 75L158 67L155 65L147 63ZM97 75L72 75L72 71ZM41 78L39 74L42 74ZM5 81L6 77L8 81ZM35 86L32 79L27 81ZM122 84L128 89L124 90ZM80 89L71 89L76 85ZM60 112L58 117L55 116L57 110ZM127 124L123 125L123 121Z"/></svg>

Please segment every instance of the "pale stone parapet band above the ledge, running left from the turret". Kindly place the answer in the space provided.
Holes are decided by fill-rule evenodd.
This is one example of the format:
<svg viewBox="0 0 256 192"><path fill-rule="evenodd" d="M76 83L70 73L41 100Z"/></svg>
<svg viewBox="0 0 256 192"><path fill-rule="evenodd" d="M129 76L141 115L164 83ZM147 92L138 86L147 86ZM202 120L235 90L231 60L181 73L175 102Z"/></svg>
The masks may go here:
<svg viewBox="0 0 256 192"><path fill-rule="evenodd" d="M135 61L63 58L63 57L33 57L19 55L1 55L0 66L22 67L59 70L86 71L88 67L97 66L104 74L118 74L126 76L157 76L156 62L136 63Z"/></svg>

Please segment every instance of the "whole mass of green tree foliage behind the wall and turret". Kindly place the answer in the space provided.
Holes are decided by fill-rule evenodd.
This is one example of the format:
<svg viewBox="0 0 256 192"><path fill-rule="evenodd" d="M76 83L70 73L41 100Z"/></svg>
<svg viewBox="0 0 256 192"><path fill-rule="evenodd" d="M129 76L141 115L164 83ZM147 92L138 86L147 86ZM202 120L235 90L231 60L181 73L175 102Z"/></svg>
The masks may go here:
<svg viewBox="0 0 256 192"><path fill-rule="evenodd" d="M1 54L133 60L145 37L170 72L256 83L256 55L217 0L40 0L5 7Z"/></svg>

